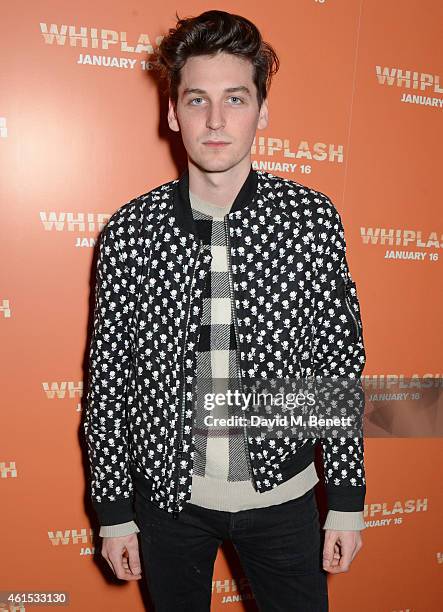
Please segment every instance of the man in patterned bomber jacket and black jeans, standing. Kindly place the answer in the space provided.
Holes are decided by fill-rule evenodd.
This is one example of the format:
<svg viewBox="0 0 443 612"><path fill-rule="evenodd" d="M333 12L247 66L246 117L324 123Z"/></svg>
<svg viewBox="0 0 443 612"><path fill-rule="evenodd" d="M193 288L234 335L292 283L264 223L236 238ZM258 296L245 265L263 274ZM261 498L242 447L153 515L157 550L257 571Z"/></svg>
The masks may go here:
<svg viewBox="0 0 443 612"><path fill-rule="evenodd" d="M216 10L179 20L158 65L188 168L122 206L100 239L84 429L102 555L123 580L143 563L156 610L209 610L230 539L261 610L327 610L326 572L347 571L362 546L363 439L320 437L321 550L318 440L205 429L193 385L359 378L340 215L251 166L278 69L254 24Z"/></svg>

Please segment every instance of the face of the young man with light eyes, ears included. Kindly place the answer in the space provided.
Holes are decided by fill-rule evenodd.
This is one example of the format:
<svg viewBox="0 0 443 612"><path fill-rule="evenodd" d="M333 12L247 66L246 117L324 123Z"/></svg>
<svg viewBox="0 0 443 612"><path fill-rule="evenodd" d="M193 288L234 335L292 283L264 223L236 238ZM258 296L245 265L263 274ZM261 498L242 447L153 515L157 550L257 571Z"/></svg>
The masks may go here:
<svg viewBox="0 0 443 612"><path fill-rule="evenodd" d="M189 162L205 172L250 166L256 130L268 125L267 101L259 109L252 70L251 62L227 53L190 57L181 70L169 127L181 132Z"/></svg>

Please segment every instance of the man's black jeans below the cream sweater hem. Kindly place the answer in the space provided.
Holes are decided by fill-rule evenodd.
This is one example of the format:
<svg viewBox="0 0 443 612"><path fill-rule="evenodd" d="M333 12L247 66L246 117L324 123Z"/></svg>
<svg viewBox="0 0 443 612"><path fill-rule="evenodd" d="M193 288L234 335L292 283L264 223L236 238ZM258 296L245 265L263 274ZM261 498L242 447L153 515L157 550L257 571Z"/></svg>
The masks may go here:
<svg viewBox="0 0 443 612"><path fill-rule="evenodd" d="M187 503L178 519L135 494L144 579L155 612L208 612L217 550L230 540L261 612L326 612L314 490L239 512Z"/></svg>

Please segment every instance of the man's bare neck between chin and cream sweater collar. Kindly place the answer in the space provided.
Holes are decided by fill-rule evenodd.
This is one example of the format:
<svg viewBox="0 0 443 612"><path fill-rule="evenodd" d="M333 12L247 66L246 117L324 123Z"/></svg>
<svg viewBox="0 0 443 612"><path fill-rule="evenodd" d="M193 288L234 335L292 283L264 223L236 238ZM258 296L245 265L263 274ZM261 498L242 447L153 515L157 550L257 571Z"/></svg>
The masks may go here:
<svg viewBox="0 0 443 612"><path fill-rule="evenodd" d="M251 158L223 172L205 172L188 159L189 191L214 206L226 207L238 195L251 170Z"/></svg>

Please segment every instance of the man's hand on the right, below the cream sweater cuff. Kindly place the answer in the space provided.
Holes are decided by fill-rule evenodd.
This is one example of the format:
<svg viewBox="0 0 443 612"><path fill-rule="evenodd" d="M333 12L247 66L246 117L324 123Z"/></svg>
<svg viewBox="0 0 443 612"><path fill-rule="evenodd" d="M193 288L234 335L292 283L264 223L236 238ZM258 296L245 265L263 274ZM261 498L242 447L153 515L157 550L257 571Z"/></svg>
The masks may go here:
<svg viewBox="0 0 443 612"><path fill-rule="evenodd" d="M326 529L323 546L323 569L331 574L347 572L363 546L360 531Z"/></svg>

